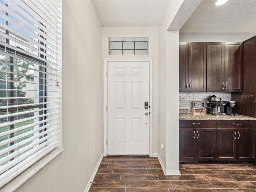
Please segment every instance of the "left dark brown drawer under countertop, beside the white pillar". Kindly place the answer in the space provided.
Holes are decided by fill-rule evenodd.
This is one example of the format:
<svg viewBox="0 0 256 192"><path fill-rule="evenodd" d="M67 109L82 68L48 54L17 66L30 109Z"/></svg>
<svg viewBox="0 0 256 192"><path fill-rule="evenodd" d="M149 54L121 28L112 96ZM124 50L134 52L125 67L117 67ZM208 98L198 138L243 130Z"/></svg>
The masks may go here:
<svg viewBox="0 0 256 192"><path fill-rule="evenodd" d="M179 120L180 128L216 128L215 120Z"/></svg>

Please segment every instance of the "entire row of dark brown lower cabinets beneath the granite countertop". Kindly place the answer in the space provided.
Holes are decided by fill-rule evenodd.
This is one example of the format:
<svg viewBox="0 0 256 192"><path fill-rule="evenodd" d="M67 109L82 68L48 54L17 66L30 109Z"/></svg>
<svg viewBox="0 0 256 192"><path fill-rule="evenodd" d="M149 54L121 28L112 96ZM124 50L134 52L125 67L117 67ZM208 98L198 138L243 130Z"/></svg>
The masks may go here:
<svg viewBox="0 0 256 192"><path fill-rule="evenodd" d="M256 121L180 120L180 161L256 162Z"/></svg>

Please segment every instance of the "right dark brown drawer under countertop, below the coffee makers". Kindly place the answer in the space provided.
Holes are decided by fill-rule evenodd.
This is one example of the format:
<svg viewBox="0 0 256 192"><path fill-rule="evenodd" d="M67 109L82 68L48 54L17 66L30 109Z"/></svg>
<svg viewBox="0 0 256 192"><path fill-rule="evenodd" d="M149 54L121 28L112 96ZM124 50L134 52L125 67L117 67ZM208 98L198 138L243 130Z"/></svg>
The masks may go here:
<svg viewBox="0 0 256 192"><path fill-rule="evenodd" d="M256 121L246 120L217 120L217 128L256 128Z"/></svg>

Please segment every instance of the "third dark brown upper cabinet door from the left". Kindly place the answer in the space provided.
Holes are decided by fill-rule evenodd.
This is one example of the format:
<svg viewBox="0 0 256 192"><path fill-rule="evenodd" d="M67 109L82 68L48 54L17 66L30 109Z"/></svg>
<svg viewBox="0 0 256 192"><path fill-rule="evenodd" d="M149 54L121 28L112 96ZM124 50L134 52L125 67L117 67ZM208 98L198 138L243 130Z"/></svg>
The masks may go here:
<svg viewBox="0 0 256 192"><path fill-rule="evenodd" d="M207 43L207 91L224 91L225 44Z"/></svg>

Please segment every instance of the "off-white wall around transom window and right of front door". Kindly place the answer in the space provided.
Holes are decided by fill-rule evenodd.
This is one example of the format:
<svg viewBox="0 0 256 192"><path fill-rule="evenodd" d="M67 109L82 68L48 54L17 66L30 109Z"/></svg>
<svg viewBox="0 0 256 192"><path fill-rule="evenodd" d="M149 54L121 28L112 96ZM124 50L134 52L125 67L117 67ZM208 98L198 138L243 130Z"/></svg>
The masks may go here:
<svg viewBox="0 0 256 192"><path fill-rule="evenodd" d="M148 37L148 55L109 55L109 37ZM153 65L153 154L158 153L158 27L103 27L102 58L152 58ZM151 115L151 113L150 113Z"/></svg>

